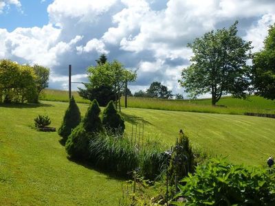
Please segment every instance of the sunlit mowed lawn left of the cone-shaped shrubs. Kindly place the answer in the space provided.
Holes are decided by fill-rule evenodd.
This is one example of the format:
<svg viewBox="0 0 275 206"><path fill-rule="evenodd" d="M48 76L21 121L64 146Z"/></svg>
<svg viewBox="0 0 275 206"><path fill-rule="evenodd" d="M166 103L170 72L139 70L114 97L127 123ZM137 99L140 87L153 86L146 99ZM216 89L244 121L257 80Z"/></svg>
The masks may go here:
<svg viewBox="0 0 275 206"><path fill-rule="evenodd" d="M32 128L39 114L58 128L66 108L0 105L0 205L118 205L119 179L69 161L57 133Z"/></svg>

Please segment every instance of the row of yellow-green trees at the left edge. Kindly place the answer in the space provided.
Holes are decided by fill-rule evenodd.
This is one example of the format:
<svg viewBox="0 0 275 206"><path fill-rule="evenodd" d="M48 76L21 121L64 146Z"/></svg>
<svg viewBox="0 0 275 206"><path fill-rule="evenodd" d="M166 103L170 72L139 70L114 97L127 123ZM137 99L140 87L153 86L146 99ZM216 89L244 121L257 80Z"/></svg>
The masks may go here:
<svg viewBox="0 0 275 206"><path fill-rule="evenodd" d="M0 60L0 103L38 103L48 85L50 69Z"/></svg>

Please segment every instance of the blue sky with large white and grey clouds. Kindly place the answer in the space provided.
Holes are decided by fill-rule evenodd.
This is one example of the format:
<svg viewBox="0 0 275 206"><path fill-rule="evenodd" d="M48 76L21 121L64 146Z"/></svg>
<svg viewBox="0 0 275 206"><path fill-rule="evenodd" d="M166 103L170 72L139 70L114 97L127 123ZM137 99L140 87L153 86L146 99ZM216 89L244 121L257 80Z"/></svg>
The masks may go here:
<svg viewBox="0 0 275 206"><path fill-rule="evenodd" d="M67 89L68 65L74 81L87 82L87 67L105 53L139 68L131 91L158 81L182 93L187 43L236 20L239 36L259 51L275 22L275 1L0 0L0 59L49 67L50 88Z"/></svg>

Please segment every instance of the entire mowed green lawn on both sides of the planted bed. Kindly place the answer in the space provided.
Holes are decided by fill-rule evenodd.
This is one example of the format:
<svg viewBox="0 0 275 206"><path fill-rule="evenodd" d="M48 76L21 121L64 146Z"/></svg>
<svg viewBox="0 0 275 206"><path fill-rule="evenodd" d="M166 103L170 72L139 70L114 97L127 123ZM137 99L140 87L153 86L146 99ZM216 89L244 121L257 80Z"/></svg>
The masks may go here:
<svg viewBox="0 0 275 206"><path fill-rule="evenodd" d="M32 128L37 115L61 125L65 102L0 105L0 205L118 205L121 180L66 158L57 133ZM85 115L88 104L78 104ZM144 137L170 147L183 128L192 144L234 163L263 165L275 154L275 119L122 108L126 133L144 123Z"/></svg>

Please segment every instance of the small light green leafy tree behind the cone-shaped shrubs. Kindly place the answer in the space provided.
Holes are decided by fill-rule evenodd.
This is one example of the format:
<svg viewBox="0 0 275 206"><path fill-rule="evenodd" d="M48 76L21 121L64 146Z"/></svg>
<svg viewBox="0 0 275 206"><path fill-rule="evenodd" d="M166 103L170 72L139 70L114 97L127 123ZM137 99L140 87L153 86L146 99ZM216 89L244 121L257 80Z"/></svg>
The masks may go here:
<svg viewBox="0 0 275 206"><path fill-rule="evenodd" d="M100 87L108 85L115 93L115 107L120 105L120 97L125 88L125 82L135 81L137 75L135 71L129 71L123 65L114 60L113 62L105 62L96 67L89 67L88 78L92 87Z"/></svg>

